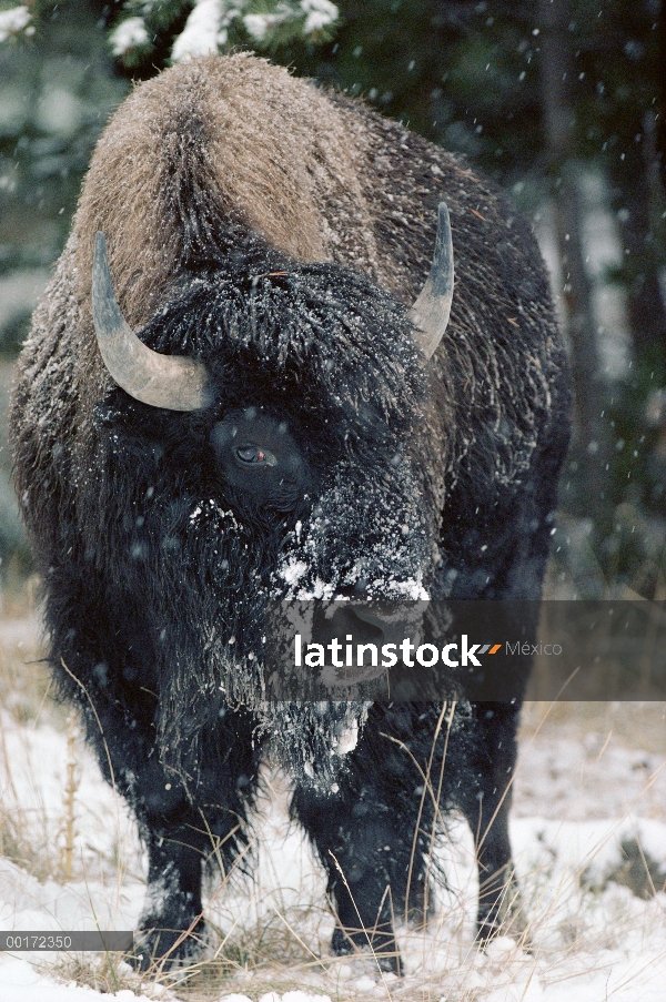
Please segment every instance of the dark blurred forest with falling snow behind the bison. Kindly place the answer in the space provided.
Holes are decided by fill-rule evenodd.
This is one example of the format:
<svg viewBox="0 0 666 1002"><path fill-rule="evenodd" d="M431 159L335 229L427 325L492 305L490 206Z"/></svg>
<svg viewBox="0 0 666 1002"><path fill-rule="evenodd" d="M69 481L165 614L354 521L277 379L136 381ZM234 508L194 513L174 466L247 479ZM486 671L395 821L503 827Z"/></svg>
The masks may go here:
<svg viewBox="0 0 666 1002"><path fill-rule="evenodd" d="M150 45L123 60L109 44L127 16L120 3L29 7L34 32L0 44L4 396L92 146L131 80L168 64L188 13L188 4L165 0L169 17ZM664 3L337 7L325 36L278 32L271 58L465 154L512 194L539 236L576 392L551 594L666 598ZM0 555L11 584L29 573L30 558L6 449L0 460Z"/></svg>

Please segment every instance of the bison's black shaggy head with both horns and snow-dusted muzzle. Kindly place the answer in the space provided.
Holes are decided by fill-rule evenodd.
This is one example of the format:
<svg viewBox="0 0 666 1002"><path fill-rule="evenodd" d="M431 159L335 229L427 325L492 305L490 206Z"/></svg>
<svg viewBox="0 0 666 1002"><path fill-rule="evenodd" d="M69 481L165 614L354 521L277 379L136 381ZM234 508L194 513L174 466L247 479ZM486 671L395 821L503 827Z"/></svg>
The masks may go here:
<svg viewBox="0 0 666 1002"><path fill-rule="evenodd" d="M292 708L306 719L275 727L262 696L265 610L274 598L424 596L436 524L424 499L426 356L451 307L445 209L442 220L411 313L360 274L299 264L252 239L180 276L140 336L118 307L98 235L93 314L118 384L99 412L100 441L115 479L134 483L132 498L114 492L101 507L131 507L114 524L134 536L140 524L140 545L127 545L148 568L147 619L161 627L157 657L169 662L164 748L192 738L183 691L194 704L188 727L204 727L221 699L246 706L287 736L283 760L301 773L307 759L331 760L302 747L317 730L324 740L314 718L324 713L335 746L362 716L344 705Z"/></svg>

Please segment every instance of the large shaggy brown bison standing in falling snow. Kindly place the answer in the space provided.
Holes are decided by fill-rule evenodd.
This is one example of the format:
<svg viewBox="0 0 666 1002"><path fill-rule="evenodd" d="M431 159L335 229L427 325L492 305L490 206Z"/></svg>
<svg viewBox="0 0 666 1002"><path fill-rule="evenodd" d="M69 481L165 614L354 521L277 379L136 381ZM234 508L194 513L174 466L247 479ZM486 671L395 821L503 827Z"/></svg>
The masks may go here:
<svg viewBox="0 0 666 1002"><path fill-rule="evenodd" d="M52 670L148 848L144 964L192 955L271 746L334 953L400 970L452 807L480 941L516 911L519 699L269 705L256 672L275 598L539 598L567 415L535 240L462 159L248 54L119 108L11 427Z"/></svg>

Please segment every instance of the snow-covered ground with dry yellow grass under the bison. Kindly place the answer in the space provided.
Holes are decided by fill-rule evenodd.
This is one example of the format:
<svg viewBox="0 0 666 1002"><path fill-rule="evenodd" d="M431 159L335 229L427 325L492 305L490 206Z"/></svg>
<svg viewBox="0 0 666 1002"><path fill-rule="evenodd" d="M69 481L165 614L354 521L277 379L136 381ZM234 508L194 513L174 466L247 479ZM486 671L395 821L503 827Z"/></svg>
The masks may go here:
<svg viewBox="0 0 666 1002"><path fill-rule="evenodd" d="M73 723L43 698L40 667L26 664L34 634L32 620L0 623L0 929L131 929L144 890L135 831ZM450 891L425 932L400 930L406 976L330 957L324 880L273 776L255 880L232 876L211 890L214 947L186 982L140 980L97 954L6 953L0 1002L666 1002L665 709L558 706L544 721L546 710L526 710L512 826L527 949L507 938L485 954L473 947L472 840L453 819L442 850Z"/></svg>

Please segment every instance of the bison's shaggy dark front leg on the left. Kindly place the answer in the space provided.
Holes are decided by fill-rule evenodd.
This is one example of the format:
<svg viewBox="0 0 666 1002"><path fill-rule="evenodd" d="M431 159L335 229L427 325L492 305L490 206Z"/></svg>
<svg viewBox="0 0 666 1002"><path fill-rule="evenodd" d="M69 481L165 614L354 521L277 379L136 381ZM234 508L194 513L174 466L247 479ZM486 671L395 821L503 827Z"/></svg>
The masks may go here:
<svg viewBox="0 0 666 1002"><path fill-rule="evenodd" d="M203 863L218 862L228 872L246 843L243 823L261 755L252 741L254 720L243 711L215 710L199 753L185 749L185 788L180 773L160 761L158 679L140 624L128 616L121 634L104 619L110 603L98 600L89 609L85 595L77 599L78 629L51 596L51 660L62 695L80 707L105 779L132 808L148 848L144 934L134 962L180 962L195 952L204 931Z"/></svg>

